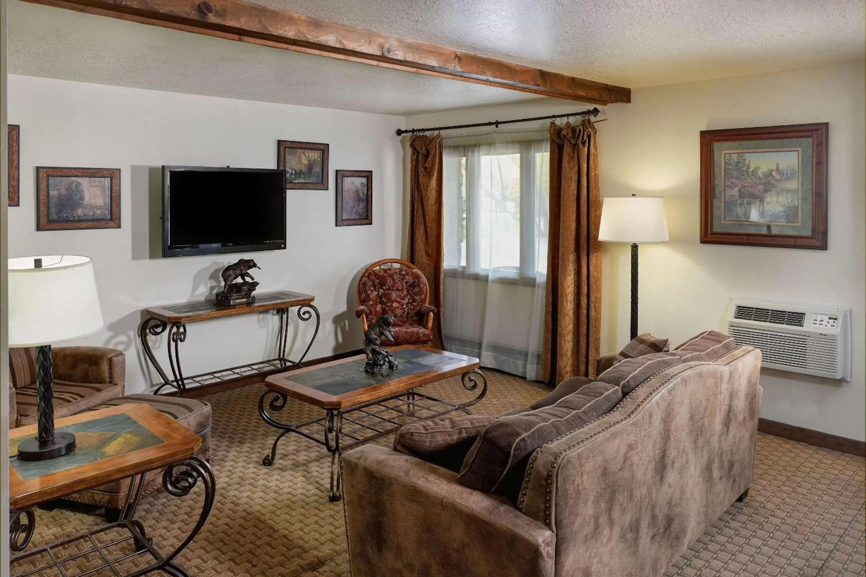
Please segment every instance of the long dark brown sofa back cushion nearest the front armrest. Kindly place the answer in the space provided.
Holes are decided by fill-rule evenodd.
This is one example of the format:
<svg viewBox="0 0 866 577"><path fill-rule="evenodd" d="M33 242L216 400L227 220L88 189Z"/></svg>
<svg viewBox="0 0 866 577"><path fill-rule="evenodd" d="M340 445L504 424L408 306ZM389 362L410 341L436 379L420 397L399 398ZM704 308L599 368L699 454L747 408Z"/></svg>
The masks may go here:
<svg viewBox="0 0 866 577"><path fill-rule="evenodd" d="M607 414L622 398L618 387L590 382L550 407L499 417L475 440L457 480L516 501L528 459L536 449Z"/></svg>

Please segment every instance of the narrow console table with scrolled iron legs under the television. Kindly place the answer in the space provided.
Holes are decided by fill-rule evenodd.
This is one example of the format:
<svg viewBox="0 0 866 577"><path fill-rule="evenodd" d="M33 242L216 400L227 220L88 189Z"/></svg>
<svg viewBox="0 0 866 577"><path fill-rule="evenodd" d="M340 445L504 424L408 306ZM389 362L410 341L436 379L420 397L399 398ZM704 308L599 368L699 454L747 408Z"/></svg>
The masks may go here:
<svg viewBox="0 0 866 577"><path fill-rule="evenodd" d="M316 318L316 328L313 337L307 343L307 349L297 361L291 361L286 356L288 346L288 314L293 308L297 308L297 315L301 321L308 321L313 316ZM184 377L184 371L180 366L180 343L186 341L186 325L197 321L212 320L215 318L236 317L238 315L249 315L254 312L274 311L280 317L280 328L277 330L277 356L267 361L251 362L249 364L228 369L219 369L210 373ZM191 303L180 303L178 305L153 306L145 310L145 319L139 325L139 339L141 347L145 351L147 360L156 369L162 383L157 386L153 394L159 394L164 388L177 390L178 395L186 393L187 382L195 385L210 385L220 381L229 381L242 376L272 374L284 370L290 366L302 366L301 363L307 357L313 341L319 334L321 319L319 309L313 305L313 296L301 294L300 292L277 291L263 292L255 295L255 303L235 306L217 306L212 300L200 300ZM166 347L168 349L168 362L171 376L165 373L165 369L159 364L154 356L148 337L158 337L168 330L166 335Z"/></svg>

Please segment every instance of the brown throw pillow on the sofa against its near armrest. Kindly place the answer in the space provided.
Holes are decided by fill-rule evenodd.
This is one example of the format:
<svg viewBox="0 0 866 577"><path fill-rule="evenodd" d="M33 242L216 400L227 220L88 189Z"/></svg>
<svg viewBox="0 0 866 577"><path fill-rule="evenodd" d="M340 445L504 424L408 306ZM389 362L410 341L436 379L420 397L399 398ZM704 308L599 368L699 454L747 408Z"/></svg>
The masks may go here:
<svg viewBox="0 0 866 577"><path fill-rule="evenodd" d="M487 415L459 414L409 423L397 429L394 450L450 471L460 471L475 439L494 419Z"/></svg>

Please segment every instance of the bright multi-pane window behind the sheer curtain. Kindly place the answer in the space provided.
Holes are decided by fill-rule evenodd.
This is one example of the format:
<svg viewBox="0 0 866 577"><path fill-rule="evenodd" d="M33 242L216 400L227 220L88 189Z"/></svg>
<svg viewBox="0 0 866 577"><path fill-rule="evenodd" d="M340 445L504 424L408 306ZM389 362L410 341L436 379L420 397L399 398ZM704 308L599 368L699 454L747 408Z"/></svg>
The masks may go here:
<svg viewBox="0 0 866 577"><path fill-rule="evenodd" d="M549 141L499 138L445 142L445 269L488 278L543 279Z"/></svg>

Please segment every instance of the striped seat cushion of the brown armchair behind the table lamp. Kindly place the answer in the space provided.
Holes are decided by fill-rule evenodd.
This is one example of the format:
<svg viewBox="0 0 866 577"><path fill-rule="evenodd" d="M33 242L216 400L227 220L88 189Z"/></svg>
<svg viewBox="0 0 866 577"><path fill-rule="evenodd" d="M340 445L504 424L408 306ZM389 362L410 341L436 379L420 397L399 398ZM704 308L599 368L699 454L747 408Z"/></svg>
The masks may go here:
<svg viewBox="0 0 866 577"><path fill-rule="evenodd" d="M62 419L104 402L116 399L123 394L123 385L109 383L84 383L54 381L55 419ZM36 423L36 384L17 388L15 404L18 414L17 426Z"/></svg>

